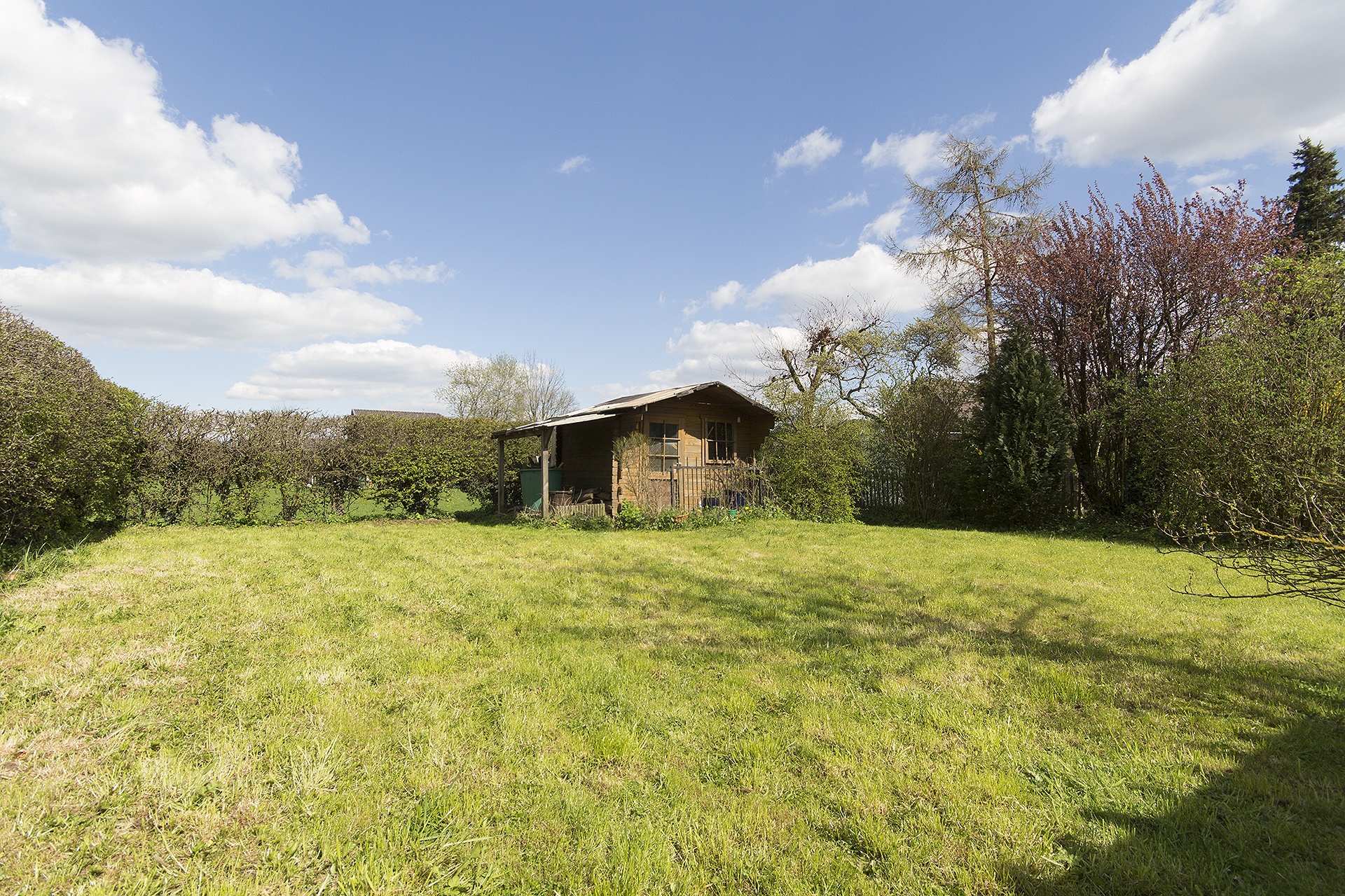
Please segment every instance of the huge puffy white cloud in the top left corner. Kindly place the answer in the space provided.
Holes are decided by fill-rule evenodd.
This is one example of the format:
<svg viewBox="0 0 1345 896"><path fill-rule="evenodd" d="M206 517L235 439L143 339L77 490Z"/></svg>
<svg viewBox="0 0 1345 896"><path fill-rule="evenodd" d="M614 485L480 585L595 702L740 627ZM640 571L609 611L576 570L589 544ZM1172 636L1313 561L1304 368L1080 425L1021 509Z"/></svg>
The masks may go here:
<svg viewBox="0 0 1345 896"><path fill-rule="evenodd" d="M176 124L159 73L126 40L0 3L0 220L48 258L218 258L325 235L369 240L325 195L293 201L299 149L233 116Z"/></svg>

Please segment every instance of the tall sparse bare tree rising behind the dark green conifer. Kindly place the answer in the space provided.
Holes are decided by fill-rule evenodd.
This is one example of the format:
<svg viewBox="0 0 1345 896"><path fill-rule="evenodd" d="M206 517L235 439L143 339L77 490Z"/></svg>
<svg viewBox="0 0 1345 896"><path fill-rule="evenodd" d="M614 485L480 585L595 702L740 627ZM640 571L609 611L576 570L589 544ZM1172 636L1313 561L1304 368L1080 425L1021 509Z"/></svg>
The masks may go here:
<svg viewBox="0 0 1345 896"><path fill-rule="evenodd" d="M1006 171L1009 150L989 140L946 137L943 177L928 187L907 177L924 242L908 250L894 236L888 239L888 253L900 266L933 281L946 308L978 321L987 367L995 360L1001 269L1013 263L1014 247L1042 224L1038 204L1050 181L1050 163L1036 171Z"/></svg>

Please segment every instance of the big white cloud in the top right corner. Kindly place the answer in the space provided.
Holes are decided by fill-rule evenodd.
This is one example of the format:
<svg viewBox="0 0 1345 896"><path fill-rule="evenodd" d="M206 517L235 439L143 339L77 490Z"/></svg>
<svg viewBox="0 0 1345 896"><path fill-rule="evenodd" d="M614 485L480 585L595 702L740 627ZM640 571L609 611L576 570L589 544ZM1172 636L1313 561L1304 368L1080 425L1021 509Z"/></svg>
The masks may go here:
<svg viewBox="0 0 1345 896"><path fill-rule="evenodd" d="M1342 34L1340 0L1197 0L1141 58L1104 52L1042 99L1033 137L1076 165L1345 145Z"/></svg>

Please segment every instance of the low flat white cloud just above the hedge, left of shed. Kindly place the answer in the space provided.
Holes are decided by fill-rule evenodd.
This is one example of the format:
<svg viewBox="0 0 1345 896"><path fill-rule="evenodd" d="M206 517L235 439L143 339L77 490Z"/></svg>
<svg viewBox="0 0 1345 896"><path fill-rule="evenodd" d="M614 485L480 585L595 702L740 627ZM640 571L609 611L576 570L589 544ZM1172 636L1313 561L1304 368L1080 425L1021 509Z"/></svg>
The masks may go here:
<svg viewBox="0 0 1345 896"><path fill-rule="evenodd" d="M479 360L471 352L390 339L317 343L273 355L266 367L234 383L227 395L253 402L351 399L387 410L433 410L444 369Z"/></svg>

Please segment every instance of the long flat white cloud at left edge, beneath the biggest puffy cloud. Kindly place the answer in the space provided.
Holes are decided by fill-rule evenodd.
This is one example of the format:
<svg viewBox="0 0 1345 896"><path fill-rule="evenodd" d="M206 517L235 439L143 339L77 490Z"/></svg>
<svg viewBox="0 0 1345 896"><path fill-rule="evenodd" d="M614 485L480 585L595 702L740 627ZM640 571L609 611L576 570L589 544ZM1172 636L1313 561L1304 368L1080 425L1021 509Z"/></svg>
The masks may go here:
<svg viewBox="0 0 1345 896"><path fill-rule="evenodd" d="M161 348L378 336L420 321L354 289L282 293L161 262L4 269L0 304L67 339Z"/></svg>

